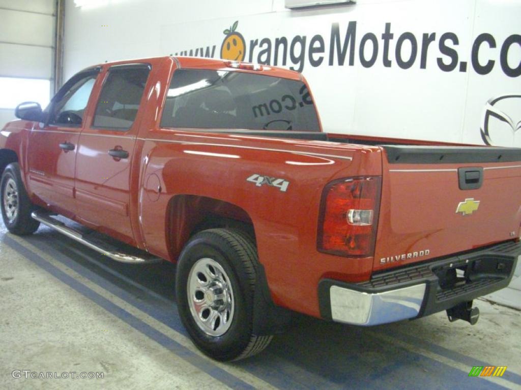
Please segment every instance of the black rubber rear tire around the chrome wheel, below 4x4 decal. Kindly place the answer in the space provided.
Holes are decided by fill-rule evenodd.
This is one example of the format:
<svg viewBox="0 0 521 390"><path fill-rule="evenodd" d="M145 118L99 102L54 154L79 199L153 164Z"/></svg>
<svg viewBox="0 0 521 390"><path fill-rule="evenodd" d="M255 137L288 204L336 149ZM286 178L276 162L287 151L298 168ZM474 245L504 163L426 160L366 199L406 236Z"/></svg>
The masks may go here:
<svg viewBox="0 0 521 390"><path fill-rule="evenodd" d="M201 321L196 320L196 314L192 315L191 310L195 308L189 301L196 297L195 294L200 293L197 291L191 294L188 291L189 286L194 283L191 282L194 280L191 278L195 274L191 271L199 269L200 264L208 266L201 263L208 260L217 263L224 270L223 280L231 285L231 289L226 290L232 296L227 313L233 311L231 311L231 320L227 324L229 328L221 335L207 333L208 329L205 330L203 325L200 325ZM197 348L213 359L230 361L253 356L266 348L273 337L256 336L252 332L257 261L257 250L250 236L240 230L224 228L196 233L179 257L176 271L176 299L181 321ZM206 293L203 296L202 299L206 304ZM203 312L204 310L201 311ZM224 317L226 315L220 318ZM212 332L212 329L209 331Z"/></svg>

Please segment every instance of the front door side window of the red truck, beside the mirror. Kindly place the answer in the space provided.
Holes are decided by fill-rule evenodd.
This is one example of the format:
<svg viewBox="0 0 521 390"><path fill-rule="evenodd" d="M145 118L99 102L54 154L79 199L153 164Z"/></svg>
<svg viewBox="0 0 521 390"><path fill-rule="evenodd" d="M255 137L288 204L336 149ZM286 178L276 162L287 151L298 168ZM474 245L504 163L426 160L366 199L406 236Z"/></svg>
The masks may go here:
<svg viewBox="0 0 521 390"><path fill-rule="evenodd" d="M79 126L89 102L97 73L75 76L69 80L53 99L49 124Z"/></svg>

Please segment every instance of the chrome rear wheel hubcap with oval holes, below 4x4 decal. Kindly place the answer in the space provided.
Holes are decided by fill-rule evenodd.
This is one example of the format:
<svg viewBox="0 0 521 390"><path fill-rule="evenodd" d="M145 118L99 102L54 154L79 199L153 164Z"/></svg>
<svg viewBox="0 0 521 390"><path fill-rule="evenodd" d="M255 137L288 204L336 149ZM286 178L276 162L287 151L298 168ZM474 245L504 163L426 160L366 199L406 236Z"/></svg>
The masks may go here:
<svg viewBox="0 0 521 390"><path fill-rule="evenodd" d="M197 326L210 336L222 336L233 319L233 290L225 270L204 257L195 262L187 284L188 304Z"/></svg>

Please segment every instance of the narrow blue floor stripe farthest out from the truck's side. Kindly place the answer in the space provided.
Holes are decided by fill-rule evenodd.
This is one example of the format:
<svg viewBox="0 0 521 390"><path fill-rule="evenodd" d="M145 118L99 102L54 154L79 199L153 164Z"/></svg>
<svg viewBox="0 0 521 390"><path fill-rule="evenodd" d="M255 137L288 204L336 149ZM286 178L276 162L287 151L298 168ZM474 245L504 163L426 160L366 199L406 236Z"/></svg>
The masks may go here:
<svg viewBox="0 0 521 390"><path fill-rule="evenodd" d="M20 245L15 240L6 236L4 239L4 242L7 245L9 245L11 248L13 248L15 251L17 251L19 254L21 254L23 257L26 257L27 259L29 259L30 261L32 261L33 263L38 265L40 268L44 269L49 274L53 275L55 278L57 278L61 282L67 284L69 287L76 290L77 292L79 292L80 294L85 296L86 298L89 298L89 300L91 300L92 302L103 307L110 314L113 314L114 316L125 321L132 328L134 328L134 329L140 331L141 333L145 334L146 336L150 337L156 343L171 350L173 353L175 353L177 356L179 356L183 360L188 361L193 366L197 367L201 371L206 372L208 375L212 376L213 378L217 379L218 381L226 384L227 386L229 386L231 388L254 389L254 387L251 386L250 384L247 384L246 382L240 380L239 378L236 378L235 376L228 373L227 371L222 370L221 368L206 361L205 359L201 358L199 355L193 353L190 349L182 346L175 340L170 339L168 336L166 336L163 333L152 328L151 326L149 326L145 322L141 321L137 317L134 317L132 314L128 313L128 311L123 310L121 307L108 301L105 297L101 296L100 294L98 294L95 291L91 290L90 288L86 287L86 285L80 283L76 279L65 274L65 272L56 268L54 265L47 262L44 258L39 256L38 254L36 254L36 253L32 252L31 250L25 248L24 246Z"/></svg>

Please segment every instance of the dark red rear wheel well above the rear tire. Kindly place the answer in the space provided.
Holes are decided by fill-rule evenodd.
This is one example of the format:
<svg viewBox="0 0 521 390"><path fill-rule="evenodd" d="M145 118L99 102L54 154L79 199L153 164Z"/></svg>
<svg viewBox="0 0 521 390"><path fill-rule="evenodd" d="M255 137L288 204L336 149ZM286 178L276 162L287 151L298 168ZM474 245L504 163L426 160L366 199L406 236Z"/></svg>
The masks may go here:
<svg viewBox="0 0 521 390"><path fill-rule="evenodd" d="M166 217L170 258L176 261L184 244L202 230L225 227L240 229L255 241L255 230L248 213L222 200L176 195L168 203Z"/></svg>

